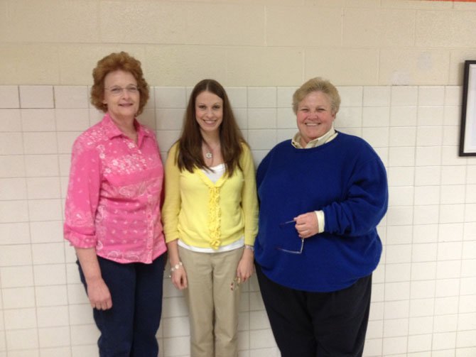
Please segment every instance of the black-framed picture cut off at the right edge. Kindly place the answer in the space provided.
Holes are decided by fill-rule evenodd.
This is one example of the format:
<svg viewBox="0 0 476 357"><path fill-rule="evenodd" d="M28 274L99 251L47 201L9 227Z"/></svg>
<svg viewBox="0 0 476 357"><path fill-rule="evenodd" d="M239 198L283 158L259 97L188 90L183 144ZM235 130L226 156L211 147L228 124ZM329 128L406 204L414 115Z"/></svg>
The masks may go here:
<svg viewBox="0 0 476 357"><path fill-rule="evenodd" d="M465 61L460 156L476 156L476 60Z"/></svg>

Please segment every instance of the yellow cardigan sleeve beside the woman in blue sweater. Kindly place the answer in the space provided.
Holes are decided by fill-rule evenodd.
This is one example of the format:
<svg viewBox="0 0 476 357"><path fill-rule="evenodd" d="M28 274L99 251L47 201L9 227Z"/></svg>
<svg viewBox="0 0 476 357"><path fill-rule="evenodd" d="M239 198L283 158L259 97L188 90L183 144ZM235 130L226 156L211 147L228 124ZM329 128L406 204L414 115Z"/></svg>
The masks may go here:
<svg viewBox="0 0 476 357"><path fill-rule="evenodd" d="M242 166L244 185L242 189L242 209L244 214L244 243L254 245L258 234L258 198L256 197L256 180L254 176L254 163L251 151L243 145Z"/></svg>

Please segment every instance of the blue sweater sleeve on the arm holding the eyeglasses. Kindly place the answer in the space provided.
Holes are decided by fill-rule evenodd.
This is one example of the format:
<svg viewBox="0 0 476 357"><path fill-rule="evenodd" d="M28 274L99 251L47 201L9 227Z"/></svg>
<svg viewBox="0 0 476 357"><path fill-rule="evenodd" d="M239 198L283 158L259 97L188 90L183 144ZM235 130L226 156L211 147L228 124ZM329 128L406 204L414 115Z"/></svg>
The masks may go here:
<svg viewBox="0 0 476 357"><path fill-rule="evenodd" d="M361 236L375 229L384 217L389 200L386 170L374 155L352 172L345 199L323 207L326 232Z"/></svg>

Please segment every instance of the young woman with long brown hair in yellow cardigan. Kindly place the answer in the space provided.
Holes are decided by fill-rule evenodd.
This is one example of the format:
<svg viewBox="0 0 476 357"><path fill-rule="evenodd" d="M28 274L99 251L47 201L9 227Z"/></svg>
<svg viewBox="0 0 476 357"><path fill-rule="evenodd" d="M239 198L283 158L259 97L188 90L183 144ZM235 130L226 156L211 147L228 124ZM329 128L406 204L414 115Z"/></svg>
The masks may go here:
<svg viewBox="0 0 476 357"><path fill-rule="evenodd" d="M225 89L204 79L166 161L162 217L192 357L238 356L239 283L253 272L258 203L251 152Z"/></svg>

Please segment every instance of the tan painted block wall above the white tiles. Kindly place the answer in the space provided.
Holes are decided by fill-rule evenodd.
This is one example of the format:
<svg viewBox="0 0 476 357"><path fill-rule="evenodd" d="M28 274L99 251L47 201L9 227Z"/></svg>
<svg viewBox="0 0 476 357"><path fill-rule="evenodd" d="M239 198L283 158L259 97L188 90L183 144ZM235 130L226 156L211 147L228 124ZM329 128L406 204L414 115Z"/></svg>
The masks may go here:
<svg viewBox="0 0 476 357"><path fill-rule="evenodd" d="M476 4L417 0L0 0L0 84L89 84L126 50L152 85L460 85Z"/></svg>

